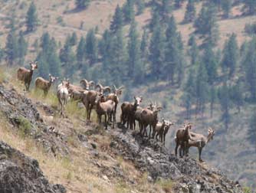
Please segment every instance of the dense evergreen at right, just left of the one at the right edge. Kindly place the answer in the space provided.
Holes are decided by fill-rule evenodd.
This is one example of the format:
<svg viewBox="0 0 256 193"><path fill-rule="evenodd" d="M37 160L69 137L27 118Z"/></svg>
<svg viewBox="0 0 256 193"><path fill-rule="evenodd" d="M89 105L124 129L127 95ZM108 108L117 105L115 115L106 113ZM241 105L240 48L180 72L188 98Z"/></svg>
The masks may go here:
<svg viewBox="0 0 256 193"><path fill-rule="evenodd" d="M235 73L235 67L238 61L238 43L234 33L225 42L223 53L222 69L223 71L228 70L229 77L231 77Z"/></svg>

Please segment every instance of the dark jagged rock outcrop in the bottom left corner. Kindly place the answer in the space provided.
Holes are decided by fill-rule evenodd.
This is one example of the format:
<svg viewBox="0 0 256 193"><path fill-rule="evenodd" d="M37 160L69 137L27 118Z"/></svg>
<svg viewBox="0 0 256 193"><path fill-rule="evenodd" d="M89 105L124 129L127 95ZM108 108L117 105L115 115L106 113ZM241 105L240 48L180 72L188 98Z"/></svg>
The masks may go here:
<svg viewBox="0 0 256 193"><path fill-rule="evenodd" d="M0 192L65 193L62 185L51 185L38 161L0 141Z"/></svg>

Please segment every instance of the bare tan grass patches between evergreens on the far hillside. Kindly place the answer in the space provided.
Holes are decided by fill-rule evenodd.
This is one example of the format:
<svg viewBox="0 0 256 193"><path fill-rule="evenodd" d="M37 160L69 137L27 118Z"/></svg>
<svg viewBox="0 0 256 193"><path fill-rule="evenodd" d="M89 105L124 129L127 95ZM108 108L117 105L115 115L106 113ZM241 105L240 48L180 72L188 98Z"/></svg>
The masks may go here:
<svg viewBox="0 0 256 193"><path fill-rule="evenodd" d="M21 2L26 2L26 6L23 9L19 9ZM124 0L113 0L113 1L93 1L87 10L75 12L73 1L36 1L38 7L38 15L41 21L41 25L35 33L28 34L27 38L30 43L34 42L35 39L40 38L41 34L44 31L48 31L54 38L58 41L63 42L67 34L76 32L78 36L85 35L87 30L94 28L96 25L99 26L100 33L109 26L111 15L119 3L120 5L125 2ZM6 29L3 24L6 24L5 16L10 13L11 8L16 8L16 17L21 24L25 18L25 11L28 9L28 1L19 1L18 5L15 5L15 2L1 2L1 15L0 18L3 18L0 23L0 29L4 33L0 36L1 46L5 44ZM197 5L197 10L199 12L200 4ZM64 14L64 11L67 13ZM182 38L184 43L189 39L189 34L193 32L192 24L181 25L181 21L185 13L185 4L182 5L182 8L174 11L176 21L179 24L178 29L182 33ZM228 34L235 32L238 35L238 43L241 44L245 39L248 39L244 34L244 27L246 23L251 23L256 21L256 16L250 17L239 17L241 14L240 7L235 7L232 10L232 17L225 20L218 21L219 30L221 32L221 40L218 42L218 47L222 48L225 40L228 38ZM57 24L57 17L61 16L63 18L65 26ZM143 25L149 21L150 11L149 8L146 8L143 15L136 16L136 21L139 23L139 28L142 28ZM84 21L84 28L80 29L80 23ZM21 28L23 25L21 25ZM125 29L128 27L126 26ZM23 28L24 29L24 28ZM28 59L34 59L34 54L30 53ZM157 90L155 87L157 86ZM164 91L166 90L166 91ZM181 114L184 111L179 103L179 97L182 95L179 90L175 90L172 87L169 87L166 83L157 83L157 85L149 85L149 87L143 87L133 90L134 94L141 93L143 96L148 96L150 93L150 98L153 100L158 100L161 103L166 104L165 113L162 113L162 116L169 119L179 120L180 123L183 121ZM161 97L159 97L161 96ZM209 125L214 127L217 130L215 140L207 146L203 152L204 158L210 162L212 165L218 166L222 169L227 169L228 174L235 179L240 179L242 182L247 182L251 172L255 172L256 165L251 164L255 162L255 156L251 155L253 148L249 146L248 141L246 140L246 131L248 129L248 113L251 112L252 107L248 106L245 109L241 110L241 113L236 113L236 110L233 110L232 113L232 123L231 129L227 133L222 132L222 125L219 123L220 119L220 110L219 106L215 106L214 118L210 118L208 113L205 114L203 119L192 118L192 121L195 123L195 130L207 134L207 129L203 129L203 126ZM207 121L206 121L207 119ZM203 124L202 124L203 123ZM174 128L179 127L179 125L174 126ZM173 141L173 133L175 129L172 129L169 132L169 143ZM169 145L170 146L170 145ZM173 147L173 142L172 142ZM245 155L241 156L239 153L245 152ZM173 150L173 148L172 148ZM195 156L197 154L193 154ZM236 168L236 169L233 169ZM235 171L235 172L234 172Z"/></svg>

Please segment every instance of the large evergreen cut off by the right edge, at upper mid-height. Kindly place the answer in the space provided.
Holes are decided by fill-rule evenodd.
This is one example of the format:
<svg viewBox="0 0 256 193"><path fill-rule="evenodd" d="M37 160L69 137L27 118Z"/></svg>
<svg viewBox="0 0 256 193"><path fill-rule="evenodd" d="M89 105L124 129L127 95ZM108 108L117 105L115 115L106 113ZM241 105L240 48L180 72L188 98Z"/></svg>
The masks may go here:
<svg viewBox="0 0 256 193"><path fill-rule="evenodd" d="M243 64L245 64L245 78L251 93L251 99L256 101L256 38L248 43Z"/></svg>

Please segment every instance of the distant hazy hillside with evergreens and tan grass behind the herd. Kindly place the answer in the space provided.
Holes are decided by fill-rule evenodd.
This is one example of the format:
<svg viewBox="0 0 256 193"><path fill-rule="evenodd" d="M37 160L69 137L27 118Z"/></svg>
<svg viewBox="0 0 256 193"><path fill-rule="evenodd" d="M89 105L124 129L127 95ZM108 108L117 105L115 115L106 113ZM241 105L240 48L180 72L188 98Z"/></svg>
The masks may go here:
<svg viewBox="0 0 256 193"><path fill-rule="evenodd" d="M34 77L123 85L122 101L157 101L160 117L176 122L171 152L185 121L205 135L212 127L202 158L256 187L256 2L14 0L0 8L3 66L38 61Z"/></svg>

